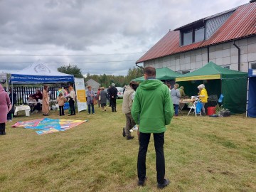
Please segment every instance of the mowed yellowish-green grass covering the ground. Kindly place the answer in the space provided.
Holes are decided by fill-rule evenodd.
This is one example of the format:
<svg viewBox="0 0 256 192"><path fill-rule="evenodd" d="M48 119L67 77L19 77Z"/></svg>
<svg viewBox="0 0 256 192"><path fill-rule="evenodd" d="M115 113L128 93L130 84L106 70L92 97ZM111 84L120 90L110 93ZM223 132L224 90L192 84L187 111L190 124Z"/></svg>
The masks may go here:
<svg viewBox="0 0 256 192"><path fill-rule="evenodd" d="M80 112L61 119L89 119L65 132L38 135L11 128L16 121L42 118L23 113L0 137L0 191L158 191L154 141L146 156L146 186L137 186L137 132L122 137L122 100L117 112ZM59 118L50 112L49 118ZM256 191L256 119L183 116L165 134L166 178L162 191Z"/></svg>

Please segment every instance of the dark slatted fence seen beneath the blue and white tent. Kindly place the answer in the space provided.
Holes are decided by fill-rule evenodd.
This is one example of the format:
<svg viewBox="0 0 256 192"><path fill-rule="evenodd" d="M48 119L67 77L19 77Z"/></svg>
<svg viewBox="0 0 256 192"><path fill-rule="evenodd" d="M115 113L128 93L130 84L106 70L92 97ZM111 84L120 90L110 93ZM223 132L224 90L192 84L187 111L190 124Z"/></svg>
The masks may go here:
<svg viewBox="0 0 256 192"><path fill-rule="evenodd" d="M57 93L58 93L59 89L60 89L60 87L49 87L50 100L57 99L57 97L58 97ZM4 87L4 90L6 90L6 87ZM17 95L16 105L26 104L26 101L28 100L29 95L36 94L36 90L40 90L41 92L43 92L43 87L24 87L24 86L13 87L13 91Z"/></svg>

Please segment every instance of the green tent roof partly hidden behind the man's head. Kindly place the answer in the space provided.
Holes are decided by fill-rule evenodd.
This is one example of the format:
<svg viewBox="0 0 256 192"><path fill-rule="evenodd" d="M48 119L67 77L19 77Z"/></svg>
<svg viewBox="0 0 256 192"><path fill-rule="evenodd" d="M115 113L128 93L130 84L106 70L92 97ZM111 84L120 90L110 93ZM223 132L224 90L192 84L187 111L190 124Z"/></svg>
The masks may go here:
<svg viewBox="0 0 256 192"><path fill-rule="evenodd" d="M157 68L156 69L156 79L158 80L174 80L179 73L174 72L169 68ZM136 78L134 81L144 81L144 77Z"/></svg>

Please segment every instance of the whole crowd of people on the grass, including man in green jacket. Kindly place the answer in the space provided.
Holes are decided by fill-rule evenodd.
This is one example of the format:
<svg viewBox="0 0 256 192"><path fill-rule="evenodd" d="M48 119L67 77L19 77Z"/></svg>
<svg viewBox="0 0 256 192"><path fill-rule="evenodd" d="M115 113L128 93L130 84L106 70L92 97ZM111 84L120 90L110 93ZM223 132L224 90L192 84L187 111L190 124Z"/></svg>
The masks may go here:
<svg viewBox="0 0 256 192"><path fill-rule="evenodd" d="M130 129L138 124L138 139L139 152L137 159L137 174L138 186L144 186L146 183L146 152L150 141L151 134L154 136L154 147L156 151L156 180L158 188L164 188L169 185L169 179L165 178L165 159L164 159L164 133L166 132L166 125L171 123L174 115L178 115L178 105L181 97L185 96L184 87L178 90L179 85L175 84L170 91L169 87L163 82L156 79L156 69L153 67L144 68L144 81L138 84L137 82L130 82L125 88L122 112L126 117L126 126L123 128L122 135L127 140L134 139L131 135ZM87 87L87 105L88 114L92 112L95 114L95 100L97 100L102 107L102 111L106 111L107 99L110 100L112 112L117 112L116 99L117 88L114 83L106 91L105 87L100 87L95 98L95 92L91 86ZM70 115L75 115L75 100L76 95L73 87L69 87L68 102L70 104ZM201 102L207 102L207 91L205 86L198 86L198 97ZM39 91L40 92L40 91ZM40 99L40 93L37 92L36 98ZM136 94L135 94L136 92ZM30 97L31 100L36 100L35 97ZM58 105L60 107L60 116L64 115L63 105L66 97L62 93L58 95ZM44 115L49 113L49 97L48 86L43 87L42 94L42 111ZM36 106L34 106L36 107ZM12 109L10 97L0 85L0 134L6 134L5 123L6 115ZM174 113L175 109L175 113ZM205 113L204 107L203 112Z"/></svg>

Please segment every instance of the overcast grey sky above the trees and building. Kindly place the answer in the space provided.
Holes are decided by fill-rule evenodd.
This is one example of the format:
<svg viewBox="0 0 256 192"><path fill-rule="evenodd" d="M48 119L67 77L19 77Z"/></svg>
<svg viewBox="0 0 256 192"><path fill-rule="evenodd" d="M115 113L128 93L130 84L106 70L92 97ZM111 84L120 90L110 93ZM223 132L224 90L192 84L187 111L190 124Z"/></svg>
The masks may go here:
<svg viewBox="0 0 256 192"><path fill-rule="evenodd" d="M83 74L127 75L174 30L249 0L0 0L0 72L38 59ZM50 64L53 63L53 64Z"/></svg>

